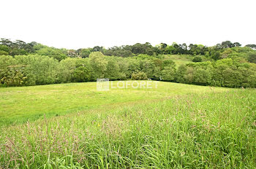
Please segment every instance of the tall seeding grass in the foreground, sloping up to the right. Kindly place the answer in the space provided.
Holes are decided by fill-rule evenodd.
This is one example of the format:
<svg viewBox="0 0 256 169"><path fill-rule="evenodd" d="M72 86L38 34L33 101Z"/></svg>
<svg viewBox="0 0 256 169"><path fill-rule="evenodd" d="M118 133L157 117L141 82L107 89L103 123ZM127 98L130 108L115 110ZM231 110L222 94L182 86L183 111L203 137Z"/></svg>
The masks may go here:
<svg viewBox="0 0 256 169"><path fill-rule="evenodd" d="M256 168L256 90L1 128L0 168Z"/></svg>

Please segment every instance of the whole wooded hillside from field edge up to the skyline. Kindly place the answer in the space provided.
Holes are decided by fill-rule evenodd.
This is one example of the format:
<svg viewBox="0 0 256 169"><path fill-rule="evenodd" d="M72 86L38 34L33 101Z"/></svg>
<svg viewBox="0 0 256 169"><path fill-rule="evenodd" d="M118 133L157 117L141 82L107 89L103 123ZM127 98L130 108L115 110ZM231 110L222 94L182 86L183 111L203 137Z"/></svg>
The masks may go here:
<svg viewBox="0 0 256 169"><path fill-rule="evenodd" d="M153 79L222 87L256 87L256 44L150 43L57 49L37 42L0 41L0 86ZM177 65L171 55L191 60Z"/></svg>

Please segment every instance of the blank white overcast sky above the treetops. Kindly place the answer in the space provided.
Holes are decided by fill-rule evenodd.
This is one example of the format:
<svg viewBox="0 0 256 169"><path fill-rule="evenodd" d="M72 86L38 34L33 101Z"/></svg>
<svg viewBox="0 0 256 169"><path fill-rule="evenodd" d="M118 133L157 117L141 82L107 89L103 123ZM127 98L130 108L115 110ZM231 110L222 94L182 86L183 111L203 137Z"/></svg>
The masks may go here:
<svg viewBox="0 0 256 169"><path fill-rule="evenodd" d="M0 38L50 47L256 44L255 0L1 0Z"/></svg>

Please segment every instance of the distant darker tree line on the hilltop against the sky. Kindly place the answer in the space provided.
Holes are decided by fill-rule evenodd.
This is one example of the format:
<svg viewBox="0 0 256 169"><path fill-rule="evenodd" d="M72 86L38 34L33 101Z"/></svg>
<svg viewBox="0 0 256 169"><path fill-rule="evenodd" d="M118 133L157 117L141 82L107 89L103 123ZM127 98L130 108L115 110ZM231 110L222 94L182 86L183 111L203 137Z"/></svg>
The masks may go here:
<svg viewBox="0 0 256 169"><path fill-rule="evenodd" d="M220 44L216 44L213 47L207 47L203 44L157 44L153 47L150 43L134 44L134 45L122 45L120 47L110 47L105 49L104 47L92 47L83 48L78 50L57 49L54 47L48 47L37 42L26 43L21 40L14 42L10 39L1 39L0 41L0 55L48 55L50 58L56 60L64 60L66 58L88 58L91 52L102 52L104 55L119 56L122 58L135 57L140 54L146 54L151 56L157 55L205 55L207 58L213 60L219 60L225 58L222 55L227 49L233 49L240 47L243 50L256 50L256 44L246 44L241 47L238 42L225 41Z"/></svg>

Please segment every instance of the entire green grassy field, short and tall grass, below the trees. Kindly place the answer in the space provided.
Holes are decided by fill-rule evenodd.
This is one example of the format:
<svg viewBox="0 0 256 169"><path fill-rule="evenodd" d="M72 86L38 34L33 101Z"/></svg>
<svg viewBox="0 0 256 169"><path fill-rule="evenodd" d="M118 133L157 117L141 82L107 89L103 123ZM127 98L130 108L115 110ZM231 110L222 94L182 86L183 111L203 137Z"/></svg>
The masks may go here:
<svg viewBox="0 0 256 169"><path fill-rule="evenodd" d="M254 89L89 82L0 93L0 168L256 168Z"/></svg>

